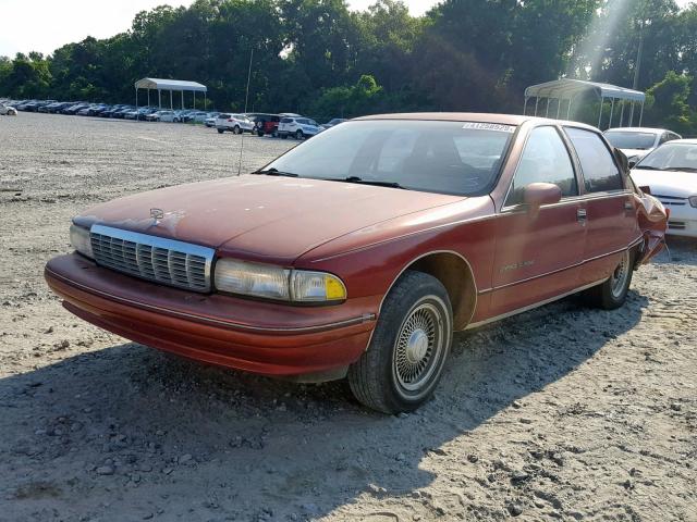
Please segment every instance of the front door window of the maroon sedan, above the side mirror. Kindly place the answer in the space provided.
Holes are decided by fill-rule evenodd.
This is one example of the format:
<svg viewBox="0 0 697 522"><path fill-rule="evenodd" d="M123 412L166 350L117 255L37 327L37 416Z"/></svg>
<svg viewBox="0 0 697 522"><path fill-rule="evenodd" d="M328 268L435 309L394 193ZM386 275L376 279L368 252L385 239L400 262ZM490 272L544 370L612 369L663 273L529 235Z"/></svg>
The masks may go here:
<svg viewBox="0 0 697 522"><path fill-rule="evenodd" d="M523 191L531 183L554 184L564 198L578 196L574 166L554 127L537 127L530 133L505 204L521 204Z"/></svg>

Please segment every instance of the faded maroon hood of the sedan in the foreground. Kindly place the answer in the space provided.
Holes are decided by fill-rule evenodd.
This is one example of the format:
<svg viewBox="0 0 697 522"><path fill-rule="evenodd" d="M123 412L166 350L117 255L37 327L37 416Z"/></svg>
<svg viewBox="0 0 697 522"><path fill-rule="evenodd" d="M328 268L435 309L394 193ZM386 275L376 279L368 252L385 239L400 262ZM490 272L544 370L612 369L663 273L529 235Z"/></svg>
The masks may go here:
<svg viewBox="0 0 697 522"><path fill-rule="evenodd" d="M244 175L115 199L74 221L222 248L258 261L292 263L342 235L463 199L352 183ZM164 216L156 222L151 209L160 209Z"/></svg>

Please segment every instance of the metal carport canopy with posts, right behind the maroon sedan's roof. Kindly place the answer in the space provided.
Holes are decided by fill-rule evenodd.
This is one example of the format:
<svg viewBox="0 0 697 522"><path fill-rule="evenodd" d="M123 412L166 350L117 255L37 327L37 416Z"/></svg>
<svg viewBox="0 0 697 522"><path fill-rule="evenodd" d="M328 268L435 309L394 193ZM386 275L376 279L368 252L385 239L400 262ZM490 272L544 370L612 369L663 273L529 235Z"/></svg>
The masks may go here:
<svg viewBox="0 0 697 522"><path fill-rule="evenodd" d="M562 102L566 101L566 119L571 119L572 104L578 95L586 92L592 92L600 99L600 111L598 115L598 128L602 122L602 107L606 98L611 102L610 109L610 122L609 127L612 126L612 116L614 113L614 102L619 100L622 103L622 112L620 115L620 126L622 126L624 120L624 105L629 102L632 105L629 114L629 126L634 121L634 104L641 104L641 113L639 114L639 126L644 117L644 102L646 101L646 95L638 90L627 89L625 87L619 87L611 84L602 84L598 82L586 82L584 79L571 79L561 78L553 82L546 82L543 84L531 85L525 89L525 103L523 105L523 113L527 113L527 102L530 98L535 98L535 115L539 107L540 98L547 99L547 107L545 109L545 116L549 116L550 99L557 100L557 117L559 119L561 112Z"/></svg>

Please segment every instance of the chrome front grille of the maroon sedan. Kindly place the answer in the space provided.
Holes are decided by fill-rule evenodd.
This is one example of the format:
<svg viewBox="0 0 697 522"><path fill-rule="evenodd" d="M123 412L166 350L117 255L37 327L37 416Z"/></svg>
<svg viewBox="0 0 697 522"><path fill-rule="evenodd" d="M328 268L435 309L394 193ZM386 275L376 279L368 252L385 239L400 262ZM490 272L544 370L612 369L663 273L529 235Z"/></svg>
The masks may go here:
<svg viewBox="0 0 697 522"><path fill-rule="evenodd" d="M163 285L210 290L212 248L103 225L93 225L89 237L101 266Z"/></svg>

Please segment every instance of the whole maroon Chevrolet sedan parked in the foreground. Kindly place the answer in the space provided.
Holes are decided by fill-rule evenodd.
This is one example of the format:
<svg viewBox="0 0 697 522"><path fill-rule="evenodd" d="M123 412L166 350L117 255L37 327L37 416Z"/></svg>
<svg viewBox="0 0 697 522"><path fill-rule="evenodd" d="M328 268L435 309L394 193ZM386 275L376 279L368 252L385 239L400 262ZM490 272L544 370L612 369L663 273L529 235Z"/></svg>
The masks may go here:
<svg viewBox="0 0 697 522"><path fill-rule="evenodd" d="M347 375L417 408L453 331L583 291L625 300L665 212L592 127L500 114L363 117L250 175L100 204L48 284L138 343L266 375Z"/></svg>

